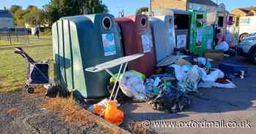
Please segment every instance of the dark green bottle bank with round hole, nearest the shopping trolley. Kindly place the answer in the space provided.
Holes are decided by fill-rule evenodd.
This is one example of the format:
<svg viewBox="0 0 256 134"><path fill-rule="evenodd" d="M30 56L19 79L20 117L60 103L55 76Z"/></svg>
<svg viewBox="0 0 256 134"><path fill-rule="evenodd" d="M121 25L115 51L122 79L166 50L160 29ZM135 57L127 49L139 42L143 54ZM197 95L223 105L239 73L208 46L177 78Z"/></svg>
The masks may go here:
<svg viewBox="0 0 256 134"><path fill-rule="evenodd" d="M53 24L52 31L56 84L83 98L108 96L110 76L105 71L92 74L85 68L123 56L120 31L113 15L62 17Z"/></svg>

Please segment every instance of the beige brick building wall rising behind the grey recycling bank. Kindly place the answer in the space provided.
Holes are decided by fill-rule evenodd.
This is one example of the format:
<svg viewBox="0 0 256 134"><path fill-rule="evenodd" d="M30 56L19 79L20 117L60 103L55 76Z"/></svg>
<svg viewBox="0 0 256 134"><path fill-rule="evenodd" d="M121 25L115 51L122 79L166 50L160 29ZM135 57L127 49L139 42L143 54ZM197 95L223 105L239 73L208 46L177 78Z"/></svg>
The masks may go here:
<svg viewBox="0 0 256 134"><path fill-rule="evenodd" d="M187 0L152 0L152 9L187 9Z"/></svg>

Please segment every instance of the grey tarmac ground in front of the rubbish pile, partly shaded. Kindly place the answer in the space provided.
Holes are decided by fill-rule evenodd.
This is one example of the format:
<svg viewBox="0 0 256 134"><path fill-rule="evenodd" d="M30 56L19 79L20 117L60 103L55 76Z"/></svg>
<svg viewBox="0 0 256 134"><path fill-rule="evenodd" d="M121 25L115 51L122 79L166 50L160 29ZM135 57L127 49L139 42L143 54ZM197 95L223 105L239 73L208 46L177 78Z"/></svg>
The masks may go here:
<svg viewBox="0 0 256 134"><path fill-rule="evenodd" d="M249 120L251 128L156 128L151 125L155 133L172 134L251 134L256 132L256 66L246 64L244 58L230 59L230 62L241 63L249 68L249 75L245 79L233 79L236 89L200 89L200 95L192 97L192 106L178 114L164 114L154 111L147 103L126 104L126 121L143 122L243 122ZM124 125L125 126L125 125Z"/></svg>

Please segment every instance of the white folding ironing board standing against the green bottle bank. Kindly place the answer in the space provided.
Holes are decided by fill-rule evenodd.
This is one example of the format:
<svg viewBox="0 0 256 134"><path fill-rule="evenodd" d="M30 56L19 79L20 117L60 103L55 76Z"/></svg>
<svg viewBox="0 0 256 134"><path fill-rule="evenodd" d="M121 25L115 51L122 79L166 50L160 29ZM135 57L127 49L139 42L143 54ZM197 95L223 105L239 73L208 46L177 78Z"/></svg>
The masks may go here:
<svg viewBox="0 0 256 134"><path fill-rule="evenodd" d="M136 60L136 59L141 58L143 56L144 56L144 54L140 54L140 53L135 54L135 55L129 55L129 56L126 56L126 57L123 57L123 58L118 58L116 60L110 60L106 63L102 63L102 64L99 64L99 65L94 66L94 67L86 68L86 71L89 71L89 72L92 72L92 73L97 73L99 71L106 71L108 74L110 74L110 76L113 76L113 78L116 79L116 82L114 84L112 93L110 95L110 100L113 96L113 92L116 88L116 84L117 84L117 82L119 82L117 92L116 92L116 95L115 95L115 98L114 98L114 101L116 101L116 96L118 94L120 84L122 84L121 83L122 76L120 76L121 71L123 70L122 74L124 74L126 69L127 69L127 65L130 61ZM119 68L118 75L115 76L109 69L113 68L113 67L116 67L116 66L119 66L119 65L121 65L121 66ZM124 68L123 68L123 66L124 66ZM120 78L118 78L118 76L120 76Z"/></svg>

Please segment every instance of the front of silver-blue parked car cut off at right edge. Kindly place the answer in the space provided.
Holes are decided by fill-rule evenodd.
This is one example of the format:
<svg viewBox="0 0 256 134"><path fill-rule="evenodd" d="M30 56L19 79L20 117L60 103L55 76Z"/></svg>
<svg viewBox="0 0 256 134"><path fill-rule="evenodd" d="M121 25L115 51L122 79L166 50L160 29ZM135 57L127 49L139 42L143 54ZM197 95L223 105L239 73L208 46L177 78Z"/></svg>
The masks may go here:
<svg viewBox="0 0 256 134"><path fill-rule="evenodd" d="M238 55L250 58L256 63L256 34L246 36L246 38L240 42L238 45Z"/></svg>

